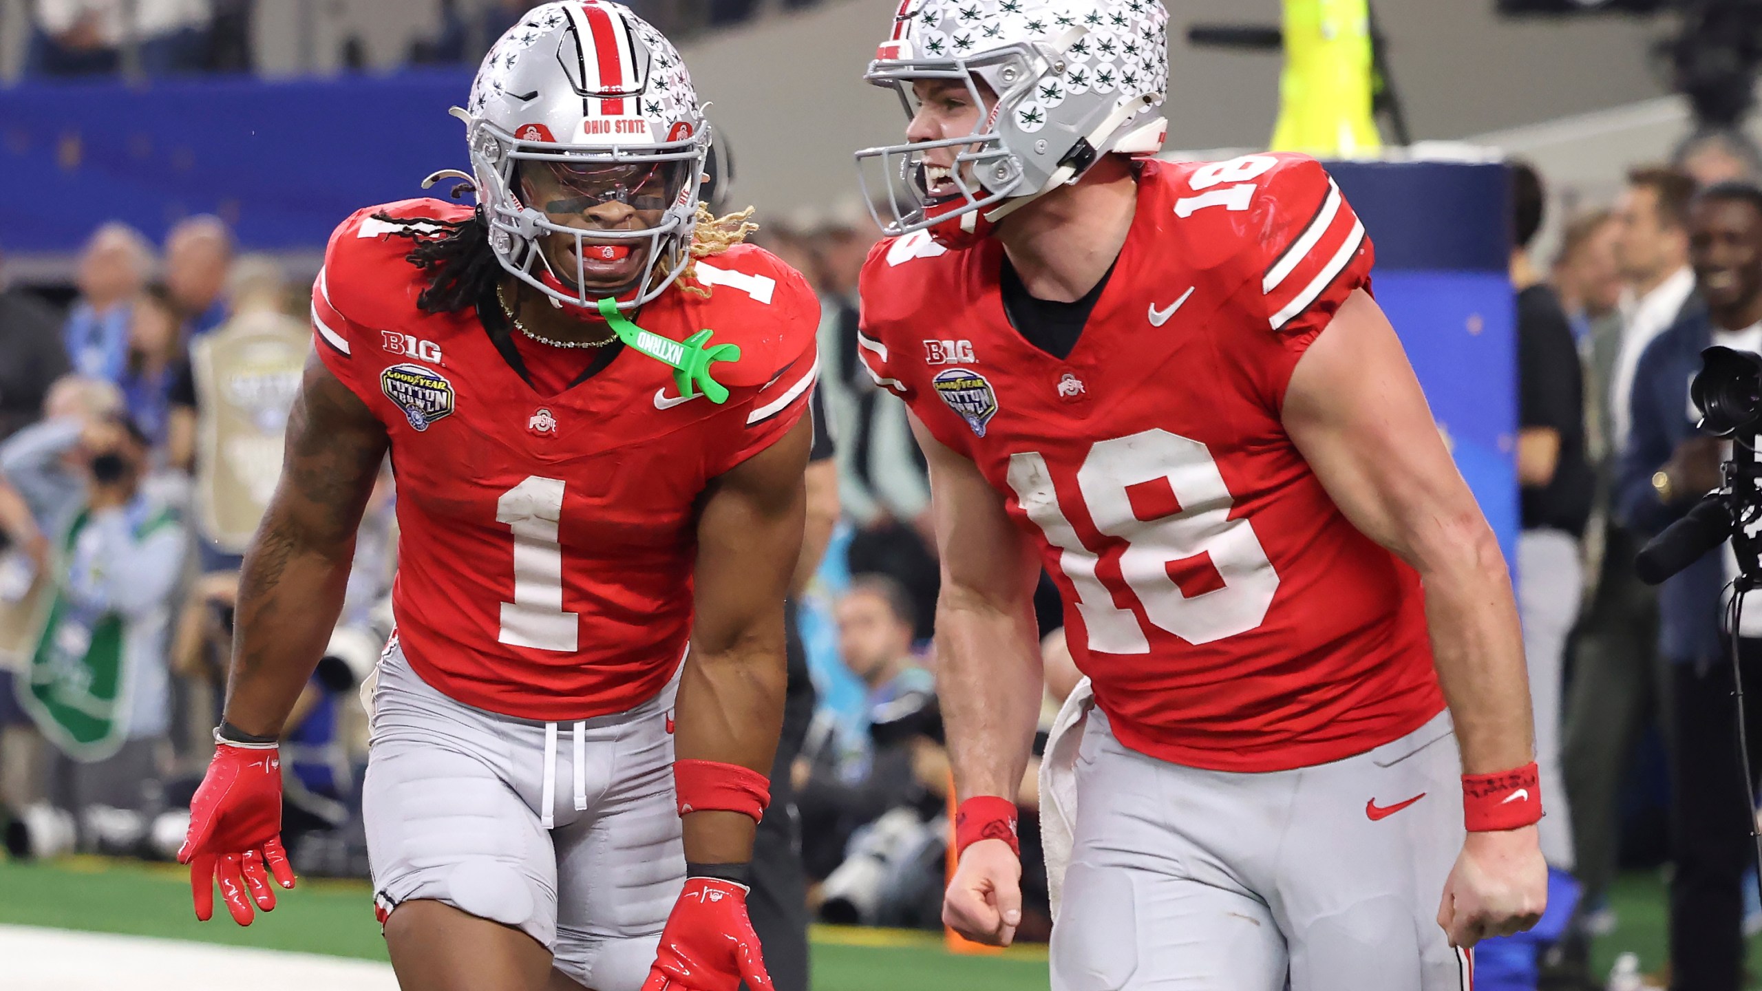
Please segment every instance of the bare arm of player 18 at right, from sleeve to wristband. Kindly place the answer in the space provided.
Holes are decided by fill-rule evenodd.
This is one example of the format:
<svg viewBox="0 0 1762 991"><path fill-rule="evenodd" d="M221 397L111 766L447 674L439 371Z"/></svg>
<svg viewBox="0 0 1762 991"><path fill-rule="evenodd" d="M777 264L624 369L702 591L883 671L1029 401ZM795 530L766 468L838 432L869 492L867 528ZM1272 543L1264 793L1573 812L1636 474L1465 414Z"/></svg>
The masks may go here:
<svg viewBox="0 0 1762 991"><path fill-rule="evenodd" d="M1299 360L1283 420L1346 518L1424 578L1462 769L1492 774L1529 764L1529 679L1505 555L1401 340L1364 291Z"/></svg>

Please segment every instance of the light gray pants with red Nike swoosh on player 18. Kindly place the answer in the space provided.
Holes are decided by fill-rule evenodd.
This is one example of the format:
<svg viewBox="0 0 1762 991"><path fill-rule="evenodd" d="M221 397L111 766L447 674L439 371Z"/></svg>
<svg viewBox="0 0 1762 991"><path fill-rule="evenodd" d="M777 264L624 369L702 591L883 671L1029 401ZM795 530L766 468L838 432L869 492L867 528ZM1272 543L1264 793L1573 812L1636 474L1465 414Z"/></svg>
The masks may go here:
<svg viewBox="0 0 1762 991"><path fill-rule="evenodd" d="M1126 749L1096 709L1052 991L1466 989L1436 920L1459 776L1448 714L1334 764L1233 774Z"/></svg>

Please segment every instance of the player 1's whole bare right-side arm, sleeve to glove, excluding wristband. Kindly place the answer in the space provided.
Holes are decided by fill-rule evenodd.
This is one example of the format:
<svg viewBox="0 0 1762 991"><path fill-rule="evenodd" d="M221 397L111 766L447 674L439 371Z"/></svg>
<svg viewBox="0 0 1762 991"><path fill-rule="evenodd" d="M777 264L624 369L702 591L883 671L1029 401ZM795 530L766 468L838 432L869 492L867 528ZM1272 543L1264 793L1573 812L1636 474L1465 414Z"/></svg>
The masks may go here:
<svg viewBox="0 0 1762 991"><path fill-rule="evenodd" d="M698 513L691 656L675 704L680 760L737 764L770 776L782 730L782 601L802 550L807 450L803 418L781 441L715 478ZM752 818L685 815L685 861L752 859Z"/></svg>

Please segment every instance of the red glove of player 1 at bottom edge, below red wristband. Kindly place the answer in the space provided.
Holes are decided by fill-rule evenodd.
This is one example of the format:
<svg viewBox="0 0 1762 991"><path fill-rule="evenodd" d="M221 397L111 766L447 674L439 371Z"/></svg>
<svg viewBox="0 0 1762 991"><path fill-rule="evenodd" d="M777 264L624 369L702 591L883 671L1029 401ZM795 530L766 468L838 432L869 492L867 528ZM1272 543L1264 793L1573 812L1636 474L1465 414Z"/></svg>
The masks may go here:
<svg viewBox="0 0 1762 991"><path fill-rule="evenodd" d="M747 919L747 887L685 878L661 929L661 949L643 991L772 991L759 938Z"/></svg>

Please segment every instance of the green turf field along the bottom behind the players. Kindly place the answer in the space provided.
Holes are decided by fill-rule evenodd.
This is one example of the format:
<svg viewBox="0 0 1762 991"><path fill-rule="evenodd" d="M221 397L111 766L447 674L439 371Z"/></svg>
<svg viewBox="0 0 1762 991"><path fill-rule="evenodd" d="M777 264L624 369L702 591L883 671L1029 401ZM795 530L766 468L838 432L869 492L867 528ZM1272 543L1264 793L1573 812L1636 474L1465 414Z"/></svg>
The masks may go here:
<svg viewBox="0 0 1762 991"><path fill-rule="evenodd" d="M1646 970L1665 959L1663 883L1656 873L1625 875L1610 905L1614 935L1598 942L1593 973L1609 973L1621 950L1640 954ZM386 959L366 885L303 882L282 896L268 919L241 929L226 917L197 922L187 875L169 866L76 857L53 864L0 861L0 924L56 926L136 936L305 950ZM1751 942L1762 961L1762 940ZM962 957L930 933L816 929L816 991L1045 991L1045 947L1018 947L1003 957ZM1762 987L1762 984L1751 984Z"/></svg>

